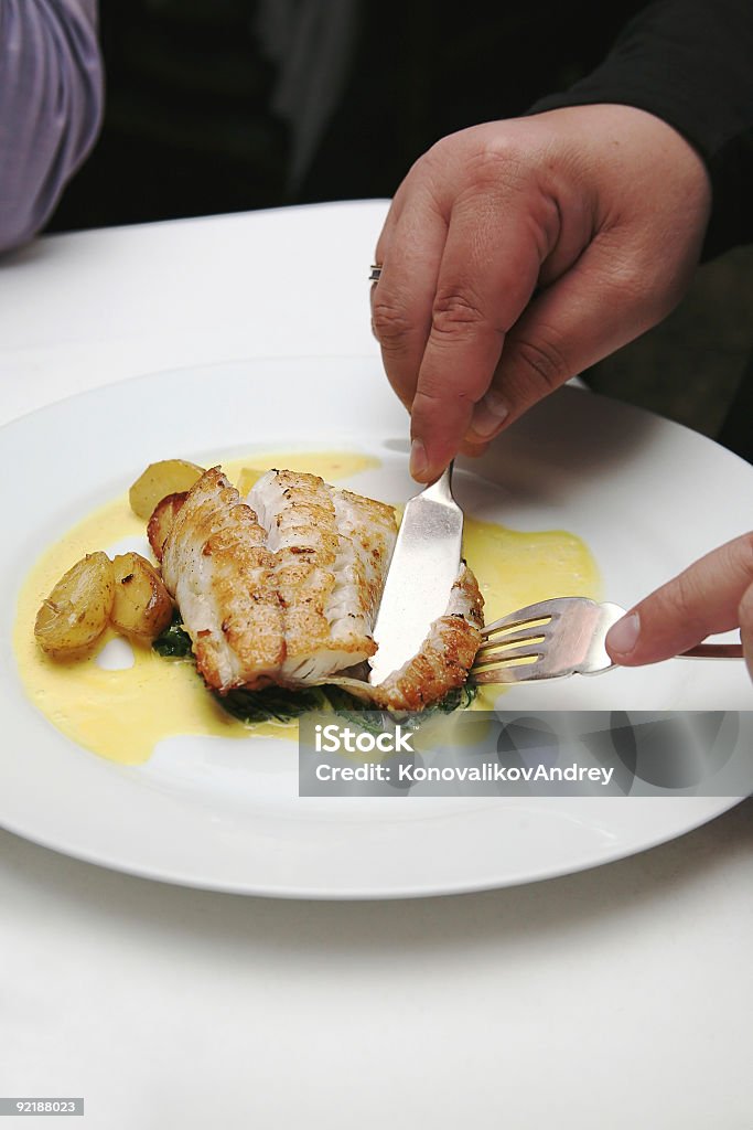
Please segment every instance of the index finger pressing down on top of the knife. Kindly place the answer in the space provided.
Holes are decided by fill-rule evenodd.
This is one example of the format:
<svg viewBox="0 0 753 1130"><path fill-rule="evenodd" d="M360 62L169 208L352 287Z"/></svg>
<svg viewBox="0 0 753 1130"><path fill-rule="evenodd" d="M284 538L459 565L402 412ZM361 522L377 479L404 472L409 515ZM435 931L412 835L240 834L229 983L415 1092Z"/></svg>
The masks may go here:
<svg viewBox="0 0 753 1130"><path fill-rule="evenodd" d="M479 195L453 208L411 414L411 473L430 483L455 457L505 334L531 298L544 251L522 209Z"/></svg>

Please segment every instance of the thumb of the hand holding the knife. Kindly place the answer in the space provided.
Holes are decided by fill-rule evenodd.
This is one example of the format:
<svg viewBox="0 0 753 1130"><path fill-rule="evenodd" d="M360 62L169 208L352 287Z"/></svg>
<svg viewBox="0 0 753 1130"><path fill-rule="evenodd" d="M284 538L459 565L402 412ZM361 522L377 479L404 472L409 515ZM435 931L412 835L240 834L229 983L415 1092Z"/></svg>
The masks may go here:
<svg viewBox="0 0 753 1130"><path fill-rule="evenodd" d="M488 392L475 406L466 441L488 443L502 427L571 376L594 365L675 305L680 287L649 289L642 255L627 233L604 233L542 290L509 330Z"/></svg>

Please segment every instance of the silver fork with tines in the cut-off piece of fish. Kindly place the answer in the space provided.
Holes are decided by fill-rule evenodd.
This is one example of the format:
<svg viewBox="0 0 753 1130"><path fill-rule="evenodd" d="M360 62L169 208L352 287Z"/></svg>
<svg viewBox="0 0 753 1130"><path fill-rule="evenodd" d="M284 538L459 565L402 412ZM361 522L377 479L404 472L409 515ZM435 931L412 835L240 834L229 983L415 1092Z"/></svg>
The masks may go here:
<svg viewBox="0 0 753 1130"><path fill-rule="evenodd" d="M502 616L482 629L471 675L476 683L529 683L563 675L598 675L615 664L604 646L606 633L625 609L586 597L557 597ZM689 659L742 659L736 643L701 643ZM513 660L525 662L513 663Z"/></svg>

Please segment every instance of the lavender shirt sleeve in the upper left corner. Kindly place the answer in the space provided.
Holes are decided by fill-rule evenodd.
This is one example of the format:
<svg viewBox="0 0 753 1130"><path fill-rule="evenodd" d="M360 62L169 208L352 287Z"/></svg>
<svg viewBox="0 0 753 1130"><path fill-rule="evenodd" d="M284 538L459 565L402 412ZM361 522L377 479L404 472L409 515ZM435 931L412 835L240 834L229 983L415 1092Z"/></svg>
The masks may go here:
<svg viewBox="0 0 753 1130"><path fill-rule="evenodd" d="M96 0L0 0L0 251L49 219L103 101Z"/></svg>

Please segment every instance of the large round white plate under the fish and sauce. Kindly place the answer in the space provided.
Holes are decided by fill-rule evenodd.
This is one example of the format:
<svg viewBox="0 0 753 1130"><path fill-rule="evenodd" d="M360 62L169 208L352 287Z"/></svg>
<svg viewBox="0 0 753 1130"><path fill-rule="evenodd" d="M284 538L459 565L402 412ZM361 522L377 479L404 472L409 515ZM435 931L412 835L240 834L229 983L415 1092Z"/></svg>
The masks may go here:
<svg viewBox="0 0 753 1130"><path fill-rule="evenodd" d="M10 627L36 556L166 453L352 447L383 466L353 486L406 497L406 421L379 366L274 359L111 385L2 431L5 551L0 823L70 855L155 879L288 897L498 887L593 867L672 838L733 801L709 798L297 797L292 742L172 739L146 765L80 749L25 698ZM476 515L580 534L605 592L629 605L750 527L753 468L669 424L564 389L529 412L457 494ZM741 663L672 661L518 687L505 709L750 709Z"/></svg>

